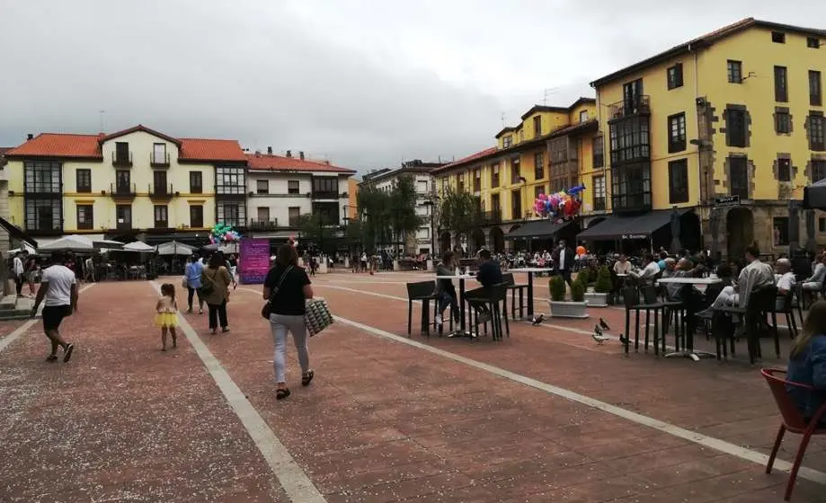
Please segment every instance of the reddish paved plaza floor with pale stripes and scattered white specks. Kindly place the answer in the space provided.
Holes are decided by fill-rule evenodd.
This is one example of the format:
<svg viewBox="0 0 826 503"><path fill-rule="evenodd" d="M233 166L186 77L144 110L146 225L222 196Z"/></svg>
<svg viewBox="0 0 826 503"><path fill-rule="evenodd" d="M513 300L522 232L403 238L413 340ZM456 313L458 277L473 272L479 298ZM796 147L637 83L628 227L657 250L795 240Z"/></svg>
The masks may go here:
<svg viewBox="0 0 826 503"><path fill-rule="evenodd" d="M307 388L288 344L282 402L259 286L232 293L229 333L182 314L185 337L165 353L155 282L84 287L63 325L68 364L44 361L40 320L0 323L0 501L782 500L799 437L765 474L779 418L744 355L624 357L617 340L591 340L600 317L609 335L624 325L610 307L511 322L494 342L426 338L414 306L408 339L404 285L428 278L314 278L337 322L310 340ZM546 296L539 278L537 311ZM826 442L804 467L793 501L826 501Z"/></svg>

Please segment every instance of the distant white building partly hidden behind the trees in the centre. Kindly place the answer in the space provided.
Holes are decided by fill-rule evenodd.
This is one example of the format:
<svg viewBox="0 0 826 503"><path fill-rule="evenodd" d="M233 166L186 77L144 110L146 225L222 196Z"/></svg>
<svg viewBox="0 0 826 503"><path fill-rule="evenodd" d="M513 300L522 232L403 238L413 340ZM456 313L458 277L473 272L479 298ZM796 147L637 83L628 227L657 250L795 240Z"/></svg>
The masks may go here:
<svg viewBox="0 0 826 503"><path fill-rule="evenodd" d="M433 251L432 233L436 223L431 222L433 206L430 203L433 202L433 196L436 194L436 181L431 172L444 165L445 163L423 163L416 159L402 163L402 167L395 170L386 168L371 172L365 175L360 183L360 185L371 185L379 190L389 191L400 176L413 176L417 196L416 215L422 218L422 225L419 226L414 236L408 236L405 252L409 254Z"/></svg>

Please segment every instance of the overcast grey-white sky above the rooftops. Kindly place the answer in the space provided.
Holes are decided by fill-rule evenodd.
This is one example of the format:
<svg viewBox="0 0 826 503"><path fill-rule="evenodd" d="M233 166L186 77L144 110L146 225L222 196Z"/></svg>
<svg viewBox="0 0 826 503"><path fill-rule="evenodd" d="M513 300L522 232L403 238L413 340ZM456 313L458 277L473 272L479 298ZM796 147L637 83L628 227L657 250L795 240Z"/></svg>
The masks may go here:
<svg viewBox="0 0 826 503"><path fill-rule="evenodd" d="M619 8L621 6L621 9ZM0 146L142 123L365 171L452 159L547 95L796 0L0 0ZM817 26L820 24L820 26Z"/></svg>

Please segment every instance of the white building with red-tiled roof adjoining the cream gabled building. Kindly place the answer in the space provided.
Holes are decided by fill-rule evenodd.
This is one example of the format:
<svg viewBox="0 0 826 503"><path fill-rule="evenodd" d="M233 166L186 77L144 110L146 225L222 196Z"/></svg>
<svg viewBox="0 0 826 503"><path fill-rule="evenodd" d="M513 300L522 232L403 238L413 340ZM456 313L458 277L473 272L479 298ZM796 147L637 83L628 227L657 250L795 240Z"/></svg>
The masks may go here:
<svg viewBox="0 0 826 503"><path fill-rule="evenodd" d="M344 225L354 171L328 162L271 154L247 154L248 232L282 242L298 230L299 216L324 214L330 225Z"/></svg>

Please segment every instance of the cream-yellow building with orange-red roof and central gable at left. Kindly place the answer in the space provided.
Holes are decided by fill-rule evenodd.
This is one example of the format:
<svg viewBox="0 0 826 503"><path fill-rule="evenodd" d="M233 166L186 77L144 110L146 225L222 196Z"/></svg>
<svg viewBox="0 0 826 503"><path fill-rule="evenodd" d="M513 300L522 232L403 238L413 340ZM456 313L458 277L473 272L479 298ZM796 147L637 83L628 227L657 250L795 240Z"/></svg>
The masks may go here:
<svg viewBox="0 0 826 503"><path fill-rule="evenodd" d="M245 225L246 158L235 140L175 138L143 126L43 133L6 158L10 219L33 236L203 243L217 219Z"/></svg>

